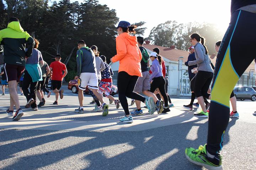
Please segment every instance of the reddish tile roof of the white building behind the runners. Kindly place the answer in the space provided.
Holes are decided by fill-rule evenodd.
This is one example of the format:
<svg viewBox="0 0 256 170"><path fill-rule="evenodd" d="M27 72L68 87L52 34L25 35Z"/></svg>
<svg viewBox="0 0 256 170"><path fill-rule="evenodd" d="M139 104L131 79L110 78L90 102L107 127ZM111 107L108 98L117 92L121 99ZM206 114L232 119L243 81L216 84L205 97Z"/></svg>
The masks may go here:
<svg viewBox="0 0 256 170"><path fill-rule="evenodd" d="M143 46L150 51L153 51L154 48L159 48L160 55L162 57L167 58L168 60L171 60L171 61L178 61L179 57L184 57L183 62L186 62L188 59L188 55L189 55L188 51L177 50L177 49L162 47L162 46L158 46L158 45L143 44ZM210 60L212 61L213 65L215 66L216 57L214 57L213 59L210 59ZM255 63L253 61L250 64L250 66L246 69L246 72L249 72L250 69L254 69L254 64Z"/></svg>

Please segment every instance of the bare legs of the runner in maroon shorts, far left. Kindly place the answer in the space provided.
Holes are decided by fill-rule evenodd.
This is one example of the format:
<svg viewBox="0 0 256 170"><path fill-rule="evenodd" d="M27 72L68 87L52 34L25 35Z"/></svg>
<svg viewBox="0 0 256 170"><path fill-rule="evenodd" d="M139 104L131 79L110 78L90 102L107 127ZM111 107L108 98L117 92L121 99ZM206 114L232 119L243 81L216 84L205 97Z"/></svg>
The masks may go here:
<svg viewBox="0 0 256 170"><path fill-rule="evenodd" d="M9 110L13 110L13 105L15 105L16 109L20 108L20 102L18 100L17 94L17 80L8 81L9 91L10 91L10 108Z"/></svg>

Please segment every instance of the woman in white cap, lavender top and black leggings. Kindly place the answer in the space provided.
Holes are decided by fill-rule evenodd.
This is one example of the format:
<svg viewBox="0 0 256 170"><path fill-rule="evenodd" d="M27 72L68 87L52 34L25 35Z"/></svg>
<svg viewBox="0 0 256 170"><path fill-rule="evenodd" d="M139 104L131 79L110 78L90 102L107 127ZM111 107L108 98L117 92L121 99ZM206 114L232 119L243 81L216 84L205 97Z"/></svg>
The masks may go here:
<svg viewBox="0 0 256 170"><path fill-rule="evenodd" d="M168 107L168 97L165 93L165 79L164 75L162 73L162 57L159 56L156 52L151 52L150 54L150 60L152 61L152 65L150 67L150 70L152 74L150 75L149 81L151 83L150 86L150 92L154 93L154 91L158 88L159 92L162 94L165 102L165 107L162 113L170 112L170 109Z"/></svg>

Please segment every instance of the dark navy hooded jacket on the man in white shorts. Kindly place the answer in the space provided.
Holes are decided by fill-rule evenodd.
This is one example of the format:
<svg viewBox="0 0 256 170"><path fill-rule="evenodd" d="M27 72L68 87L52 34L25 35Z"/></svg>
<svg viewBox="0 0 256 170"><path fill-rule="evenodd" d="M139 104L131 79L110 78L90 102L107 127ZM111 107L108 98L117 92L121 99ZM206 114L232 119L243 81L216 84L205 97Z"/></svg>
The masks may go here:
<svg viewBox="0 0 256 170"><path fill-rule="evenodd" d="M88 47L82 47L76 52L77 74L96 73L94 52Z"/></svg>

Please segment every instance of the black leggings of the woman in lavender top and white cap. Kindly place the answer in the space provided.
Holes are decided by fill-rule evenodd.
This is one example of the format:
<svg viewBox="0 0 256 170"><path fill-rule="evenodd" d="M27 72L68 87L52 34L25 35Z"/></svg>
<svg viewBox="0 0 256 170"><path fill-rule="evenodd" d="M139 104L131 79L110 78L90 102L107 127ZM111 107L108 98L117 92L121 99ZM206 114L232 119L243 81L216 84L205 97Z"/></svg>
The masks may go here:
<svg viewBox="0 0 256 170"><path fill-rule="evenodd" d="M164 77L153 78L153 82L150 86L150 92L154 93L156 89L159 89L161 95L164 97L165 107L168 107L168 97L165 93L165 79Z"/></svg>

